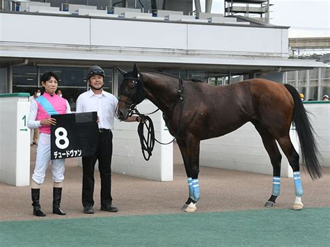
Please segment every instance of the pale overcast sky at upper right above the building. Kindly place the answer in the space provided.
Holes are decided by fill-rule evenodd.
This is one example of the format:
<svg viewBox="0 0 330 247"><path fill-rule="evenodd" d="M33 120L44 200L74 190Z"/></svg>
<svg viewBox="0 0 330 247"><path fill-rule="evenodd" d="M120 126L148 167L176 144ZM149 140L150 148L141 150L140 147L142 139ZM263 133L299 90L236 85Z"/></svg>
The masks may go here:
<svg viewBox="0 0 330 247"><path fill-rule="evenodd" d="M194 0L193 0L194 1ZM271 24L290 26L289 37L330 37L330 0L270 0ZM201 0L205 11L205 0ZM223 13L223 0L213 0L212 13Z"/></svg>

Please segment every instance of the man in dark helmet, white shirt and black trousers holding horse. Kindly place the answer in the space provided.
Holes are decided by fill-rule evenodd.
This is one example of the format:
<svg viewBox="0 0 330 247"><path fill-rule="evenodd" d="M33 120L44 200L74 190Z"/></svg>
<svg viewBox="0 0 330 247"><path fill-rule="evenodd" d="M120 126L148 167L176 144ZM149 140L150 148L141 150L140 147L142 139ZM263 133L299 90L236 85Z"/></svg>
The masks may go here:
<svg viewBox="0 0 330 247"><path fill-rule="evenodd" d="M101 177L101 210L107 212L118 212L117 207L112 205L111 197L111 157L112 157L112 132L113 120L116 115L118 99L104 91L105 73L99 66L92 66L88 69L87 81L91 87L77 99L77 113L97 111L97 123L100 129L99 143L95 154L82 157L83 164L83 185L82 205L85 214L94 214L94 169L95 162L98 166ZM127 122L141 121L136 115L125 120Z"/></svg>

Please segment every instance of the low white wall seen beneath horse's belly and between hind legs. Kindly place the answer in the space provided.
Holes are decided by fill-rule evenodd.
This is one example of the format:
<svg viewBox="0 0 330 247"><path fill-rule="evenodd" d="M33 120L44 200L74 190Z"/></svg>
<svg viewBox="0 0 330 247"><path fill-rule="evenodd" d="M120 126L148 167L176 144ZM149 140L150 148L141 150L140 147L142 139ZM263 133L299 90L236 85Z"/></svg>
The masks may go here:
<svg viewBox="0 0 330 247"><path fill-rule="evenodd" d="M292 137L296 138L294 134L292 130ZM296 149L298 150L298 148ZM289 167L288 160L285 159L283 152L281 154L283 156L281 176L292 177L292 169ZM202 141L200 165L273 174L272 164L262 145L261 137L250 122L226 136Z"/></svg>

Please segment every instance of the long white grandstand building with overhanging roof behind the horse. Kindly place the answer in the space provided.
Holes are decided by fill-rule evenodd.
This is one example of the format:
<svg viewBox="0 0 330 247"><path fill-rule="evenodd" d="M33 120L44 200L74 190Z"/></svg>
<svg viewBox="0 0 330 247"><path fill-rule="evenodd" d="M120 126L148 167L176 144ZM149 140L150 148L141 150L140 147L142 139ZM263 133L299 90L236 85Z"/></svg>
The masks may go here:
<svg viewBox="0 0 330 247"><path fill-rule="evenodd" d="M31 93L40 86L40 74L52 70L63 95L75 100L87 89L87 67L95 64L104 67L105 89L115 95L121 81L116 66L131 70L134 63L141 70L216 84L237 75L283 82L285 71L326 66L289 59L288 26L249 17L184 15L191 1L183 1L182 11L152 10L153 1L147 1L148 8L69 2L2 1L0 93Z"/></svg>

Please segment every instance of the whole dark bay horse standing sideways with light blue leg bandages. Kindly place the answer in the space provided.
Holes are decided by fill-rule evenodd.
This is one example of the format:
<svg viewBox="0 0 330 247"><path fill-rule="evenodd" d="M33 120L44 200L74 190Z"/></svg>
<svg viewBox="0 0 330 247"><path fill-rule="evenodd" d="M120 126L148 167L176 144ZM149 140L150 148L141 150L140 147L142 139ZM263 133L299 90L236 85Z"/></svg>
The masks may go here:
<svg viewBox="0 0 330 247"><path fill-rule="evenodd" d="M120 70L120 69L119 69ZM164 113L169 132L177 138L188 177L189 198L182 209L196 211L199 200L199 149L201 140L223 136L251 122L262 138L273 166L272 196L265 206L272 207L280 193L281 153L288 158L294 172L296 200L293 209L302 209L303 194L299 154L290 141L293 122L303 164L313 179L321 177L313 129L299 93L293 86L266 79L249 79L226 86L182 81L159 72L124 72L120 86L118 116L125 120L132 108L145 97Z"/></svg>

